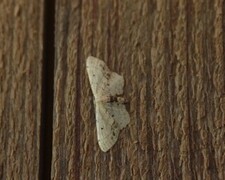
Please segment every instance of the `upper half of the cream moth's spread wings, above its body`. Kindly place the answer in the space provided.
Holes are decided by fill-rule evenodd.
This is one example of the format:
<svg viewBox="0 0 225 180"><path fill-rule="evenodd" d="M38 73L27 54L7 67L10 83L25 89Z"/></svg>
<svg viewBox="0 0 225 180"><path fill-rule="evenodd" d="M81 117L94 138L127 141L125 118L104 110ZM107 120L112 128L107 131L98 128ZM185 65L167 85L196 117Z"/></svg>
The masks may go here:
<svg viewBox="0 0 225 180"><path fill-rule="evenodd" d="M89 56L86 66L95 99L123 93L123 77L111 72L104 61Z"/></svg>

